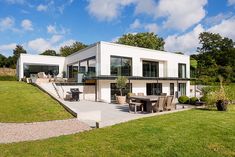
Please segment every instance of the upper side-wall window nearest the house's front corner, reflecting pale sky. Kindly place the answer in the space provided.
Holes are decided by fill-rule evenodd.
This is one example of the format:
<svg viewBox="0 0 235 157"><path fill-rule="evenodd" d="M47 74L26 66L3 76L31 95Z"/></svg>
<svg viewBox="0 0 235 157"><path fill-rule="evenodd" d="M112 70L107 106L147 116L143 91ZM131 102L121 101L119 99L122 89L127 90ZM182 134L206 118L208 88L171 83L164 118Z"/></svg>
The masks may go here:
<svg viewBox="0 0 235 157"><path fill-rule="evenodd" d="M79 72L88 76L94 76L96 74L96 58L91 57L79 62Z"/></svg>

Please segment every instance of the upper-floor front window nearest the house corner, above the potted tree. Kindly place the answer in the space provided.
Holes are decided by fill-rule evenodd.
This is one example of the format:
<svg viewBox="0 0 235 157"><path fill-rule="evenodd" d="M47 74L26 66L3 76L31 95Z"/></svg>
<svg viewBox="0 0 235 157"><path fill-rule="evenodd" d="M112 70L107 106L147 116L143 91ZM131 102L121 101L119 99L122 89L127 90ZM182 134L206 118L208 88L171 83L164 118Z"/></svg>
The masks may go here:
<svg viewBox="0 0 235 157"><path fill-rule="evenodd" d="M112 76L132 76L132 59L126 57L111 56Z"/></svg>

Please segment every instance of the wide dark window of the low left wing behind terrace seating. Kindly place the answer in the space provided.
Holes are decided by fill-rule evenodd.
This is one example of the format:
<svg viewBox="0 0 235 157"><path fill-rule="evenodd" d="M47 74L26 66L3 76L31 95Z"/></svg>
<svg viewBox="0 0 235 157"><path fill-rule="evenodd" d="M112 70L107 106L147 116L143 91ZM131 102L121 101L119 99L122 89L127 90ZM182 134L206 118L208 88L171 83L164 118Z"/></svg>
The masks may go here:
<svg viewBox="0 0 235 157"><path fill-rule="evenodd" d="M24 76L30 77L30 74L37 74L39 72L44 72L46 75L50 74L52 76L56 76L59 74L59 66L24 64Z"/></svg>

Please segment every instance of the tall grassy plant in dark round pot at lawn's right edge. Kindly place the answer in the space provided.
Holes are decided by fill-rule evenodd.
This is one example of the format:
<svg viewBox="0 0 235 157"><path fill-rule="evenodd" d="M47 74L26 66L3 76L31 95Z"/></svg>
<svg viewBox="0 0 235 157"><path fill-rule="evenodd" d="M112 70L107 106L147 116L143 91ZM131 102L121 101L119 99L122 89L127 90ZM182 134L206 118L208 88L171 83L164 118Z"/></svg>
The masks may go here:
<svg viewBox="0 0 235 157"><path fill-rule="evenodd" d="M218 111L226 111L228 105L228 98L226 97L224 87L223 87L223 77L219 76L220 80L220 89L217 91L217 101L216 107Z"/></svg>

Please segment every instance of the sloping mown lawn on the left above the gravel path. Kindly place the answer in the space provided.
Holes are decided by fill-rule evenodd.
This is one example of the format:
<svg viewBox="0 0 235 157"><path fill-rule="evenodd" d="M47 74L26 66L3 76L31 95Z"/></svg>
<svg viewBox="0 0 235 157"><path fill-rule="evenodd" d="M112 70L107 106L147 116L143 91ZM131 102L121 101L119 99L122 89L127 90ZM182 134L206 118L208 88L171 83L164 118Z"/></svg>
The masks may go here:
<svg viewBox="0 0 235 157"><path fill-rule="evenodd" d="M37 87L24 82L0 81L0 122L37 122L67 118L72 118L72 115Z"/></svg>

